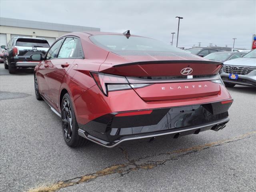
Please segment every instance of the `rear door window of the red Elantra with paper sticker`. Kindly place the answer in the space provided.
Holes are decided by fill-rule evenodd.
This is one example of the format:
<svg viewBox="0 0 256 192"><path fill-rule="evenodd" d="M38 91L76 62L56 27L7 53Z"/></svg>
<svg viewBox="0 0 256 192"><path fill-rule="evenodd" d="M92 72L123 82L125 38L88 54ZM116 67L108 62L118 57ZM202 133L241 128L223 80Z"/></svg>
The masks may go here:
<svg viewBox="0 0 256 192"><path fill-rule="evenodd" d="M58 58L76 58L78 39L73 37L67 37L60 48Z"/></svg>

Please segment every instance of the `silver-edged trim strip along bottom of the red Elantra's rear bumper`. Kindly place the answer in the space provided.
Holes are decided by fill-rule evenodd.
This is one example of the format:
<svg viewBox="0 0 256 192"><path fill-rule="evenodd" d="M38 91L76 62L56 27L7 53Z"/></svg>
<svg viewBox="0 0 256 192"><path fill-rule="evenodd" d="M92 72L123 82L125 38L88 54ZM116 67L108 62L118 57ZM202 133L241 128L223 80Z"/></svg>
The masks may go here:
<svg viewBox="0 0 256 192"><path fill-rule="evenodd" d="M78 129L78 135L80 135L94 143L97 143L101 146L104 146L107 148L112 148L124 141L129 141L129 140L152 138L152 137L163 136L163 135L174 135L174 137L175 137L176 134L179 134L179 136L188 135L188 134L198 134L198 130L200 130L200 132L210 130L213 127L215 127L216 125L226 124L228 121L229 121L229 118L225 118L222 120L218 120L218 121L200 125L200 126L191 126L191 127L187 127L187 128L183 128L183 129L175 129L175 130L161 131L161 132L156 132L156 133L125 136L125 137L119 138L118 140L114 140L113 142L107 142L104 140L100 140L99 138L89 135L88 133L86 133L86 131L84 131L82 129Z"/></svg>

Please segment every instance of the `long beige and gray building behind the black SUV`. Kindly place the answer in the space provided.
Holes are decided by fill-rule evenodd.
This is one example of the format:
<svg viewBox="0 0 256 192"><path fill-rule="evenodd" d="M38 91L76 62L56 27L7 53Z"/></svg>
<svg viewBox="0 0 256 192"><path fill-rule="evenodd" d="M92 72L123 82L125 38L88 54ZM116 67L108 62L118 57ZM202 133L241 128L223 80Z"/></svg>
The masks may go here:
<svg viewBox="0 0 256 192"><path fill-rule="evenodd" d="M1 17L0 45L6 46L10 39L16 36L44 38L51 45L66 33L82 31L100 31L100 28Z"/></svg>

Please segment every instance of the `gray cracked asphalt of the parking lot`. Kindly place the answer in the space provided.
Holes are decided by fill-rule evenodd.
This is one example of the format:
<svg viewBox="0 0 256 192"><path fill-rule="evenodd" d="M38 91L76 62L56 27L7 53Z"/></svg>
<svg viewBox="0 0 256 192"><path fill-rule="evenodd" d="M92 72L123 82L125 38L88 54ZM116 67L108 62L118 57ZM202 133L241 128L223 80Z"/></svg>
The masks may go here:
<svg viewBox="0 0 256 192"><path fill-rule="evenodd" d="M68 147L61 120L34 95L31 70L0 64L0 188L59 192L256 190L256 88L228 88L230 122L219 132L129 141L115 148Z"/></svg>

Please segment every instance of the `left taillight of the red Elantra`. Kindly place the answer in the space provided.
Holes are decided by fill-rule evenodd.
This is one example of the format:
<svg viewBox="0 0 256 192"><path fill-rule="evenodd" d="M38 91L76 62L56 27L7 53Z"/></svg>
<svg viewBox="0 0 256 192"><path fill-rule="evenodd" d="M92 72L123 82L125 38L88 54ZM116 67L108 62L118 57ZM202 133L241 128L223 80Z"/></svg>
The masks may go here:
<svg viewBox="0 0 256 192"><path fill-rule="evenodd" d="M90 72L100 90L108 96L110 91L127 90L132 88L141 88L150 84L129 84L126 77L104 74L99 72Z"/></svg>

